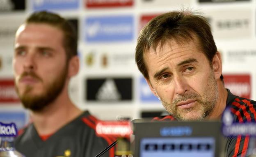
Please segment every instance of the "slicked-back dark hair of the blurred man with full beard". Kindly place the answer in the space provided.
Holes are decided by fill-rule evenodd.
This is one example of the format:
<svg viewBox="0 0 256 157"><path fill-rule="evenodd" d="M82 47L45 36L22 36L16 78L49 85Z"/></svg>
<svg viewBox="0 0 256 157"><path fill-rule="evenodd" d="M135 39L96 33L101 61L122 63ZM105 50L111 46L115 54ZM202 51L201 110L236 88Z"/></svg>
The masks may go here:
<svg viewBox="0 0 256 157"><path fill-rule="evenodd" d="M60 29L63 34L63 46L66 52L66 58L69 60L71 57L78 55L77 53L77 33L74 26L57 15L48 11L37 11L32 13L25 21L26 24L38 23L49 24L50 26ZM54 34L53 34L54 35Z"/></svg>

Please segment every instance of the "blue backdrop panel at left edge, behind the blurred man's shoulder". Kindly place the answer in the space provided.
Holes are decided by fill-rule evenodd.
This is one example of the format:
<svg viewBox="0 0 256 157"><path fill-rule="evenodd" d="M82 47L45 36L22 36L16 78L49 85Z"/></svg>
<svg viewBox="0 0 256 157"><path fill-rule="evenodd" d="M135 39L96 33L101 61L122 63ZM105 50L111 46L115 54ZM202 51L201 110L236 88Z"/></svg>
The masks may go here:
<svg viewBox="0 0 256 157"><path fill-rule="evenodd" d="M25 111L1 111L0 122L15 123L17 128L23 128L27 122L27 113Z"/></svg>

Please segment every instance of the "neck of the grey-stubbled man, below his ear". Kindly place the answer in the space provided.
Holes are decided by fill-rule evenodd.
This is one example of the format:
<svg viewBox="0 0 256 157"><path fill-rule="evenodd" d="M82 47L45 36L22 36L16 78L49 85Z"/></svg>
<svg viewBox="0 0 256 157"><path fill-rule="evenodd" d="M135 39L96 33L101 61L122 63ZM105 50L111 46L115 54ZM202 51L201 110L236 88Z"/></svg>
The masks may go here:
<svg viewBox="0 0 256 157"><path fill-rule="evenodd" d="M221 119L222 113L226 108L226 100L228 98L228 91L224 88L222 82L217 82L218 86L218 99L213 112L208 116L208 119Z"/></svg>

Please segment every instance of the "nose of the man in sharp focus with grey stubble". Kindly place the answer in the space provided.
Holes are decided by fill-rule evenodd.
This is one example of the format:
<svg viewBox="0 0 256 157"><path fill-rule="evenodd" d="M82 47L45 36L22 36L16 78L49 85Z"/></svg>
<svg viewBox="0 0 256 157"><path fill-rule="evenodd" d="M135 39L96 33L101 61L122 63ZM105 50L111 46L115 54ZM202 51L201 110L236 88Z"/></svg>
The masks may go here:
<svg viewBox="0 0 256 157"><path fill-rule="evenodd" d="M188 91L188 84L184 77L174 77L174 90L178 95L184 95Z"/></svg>

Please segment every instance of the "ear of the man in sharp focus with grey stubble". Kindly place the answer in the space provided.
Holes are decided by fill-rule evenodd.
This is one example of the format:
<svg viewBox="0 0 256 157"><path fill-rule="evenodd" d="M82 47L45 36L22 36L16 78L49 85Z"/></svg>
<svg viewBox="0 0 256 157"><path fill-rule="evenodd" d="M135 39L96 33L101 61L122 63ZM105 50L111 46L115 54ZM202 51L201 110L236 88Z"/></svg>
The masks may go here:
<svg viewBox="0 0 256 157"><path fill-rule="evenodd" d="M222 58L219 51L213 57L213 72L215 75L216 80L222 75Z"/></svg>

